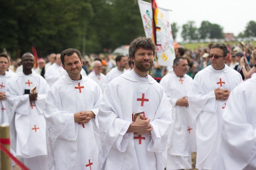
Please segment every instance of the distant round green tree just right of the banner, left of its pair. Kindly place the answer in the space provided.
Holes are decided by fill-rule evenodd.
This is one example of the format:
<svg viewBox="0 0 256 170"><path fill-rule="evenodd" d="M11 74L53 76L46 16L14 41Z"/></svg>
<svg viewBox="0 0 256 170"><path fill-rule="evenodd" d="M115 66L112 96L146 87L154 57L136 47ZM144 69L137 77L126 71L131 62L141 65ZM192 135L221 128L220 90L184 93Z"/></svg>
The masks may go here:
<svg viewBox="0 0 256 170"><path fill-rule="evenodd" d="M183 40L189 41L198 39L198 29L194 21L188 21L187 24L182 26L181 37Z"/></svg>

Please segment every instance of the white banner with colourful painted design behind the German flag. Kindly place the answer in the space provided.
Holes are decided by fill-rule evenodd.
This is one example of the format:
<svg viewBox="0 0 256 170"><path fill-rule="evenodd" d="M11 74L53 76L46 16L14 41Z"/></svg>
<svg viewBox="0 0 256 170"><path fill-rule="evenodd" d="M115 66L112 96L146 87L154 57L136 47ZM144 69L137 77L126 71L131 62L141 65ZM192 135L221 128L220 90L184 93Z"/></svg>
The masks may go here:
<svg viewBox="0 0 256 170"><path fill-rule="evenodd" d="M153 12L151 3L138 0L146 37L153 39ZM175 59L169 10L158 7L156 22L157 61L160 66L172 66Z"/></svg>

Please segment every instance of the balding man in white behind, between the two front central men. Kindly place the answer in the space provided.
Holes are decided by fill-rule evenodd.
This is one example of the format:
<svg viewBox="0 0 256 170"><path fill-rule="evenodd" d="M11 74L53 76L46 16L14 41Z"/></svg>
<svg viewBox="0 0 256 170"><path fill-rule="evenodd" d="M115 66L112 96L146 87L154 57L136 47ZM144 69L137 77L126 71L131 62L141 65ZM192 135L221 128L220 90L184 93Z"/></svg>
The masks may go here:
<svg viewBox="0 0 256 170"><path fill-rule="evenodd" d="M95 60L92 66L94 71L91 71L88 74L88 78L94 80L100 86L103 93L105 89L104 82L106 81L106 76L102 73L102 64L100 61Z"/></svg>

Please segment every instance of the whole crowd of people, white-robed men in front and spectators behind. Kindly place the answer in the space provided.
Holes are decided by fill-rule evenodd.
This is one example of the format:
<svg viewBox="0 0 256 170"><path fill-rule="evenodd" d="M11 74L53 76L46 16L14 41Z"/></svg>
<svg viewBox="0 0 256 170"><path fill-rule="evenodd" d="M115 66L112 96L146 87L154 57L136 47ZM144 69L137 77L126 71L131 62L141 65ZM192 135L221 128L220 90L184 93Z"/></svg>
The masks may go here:
<svg viewBox="0 0 256 170"><path fill-rule="evenodd" d="M11 153L31 170L191 169L191 152L199 170L256 169L255 47L178 47L172 68L155 54L146 37L129 56L69 48L37 68L0 53Z"/></svg>

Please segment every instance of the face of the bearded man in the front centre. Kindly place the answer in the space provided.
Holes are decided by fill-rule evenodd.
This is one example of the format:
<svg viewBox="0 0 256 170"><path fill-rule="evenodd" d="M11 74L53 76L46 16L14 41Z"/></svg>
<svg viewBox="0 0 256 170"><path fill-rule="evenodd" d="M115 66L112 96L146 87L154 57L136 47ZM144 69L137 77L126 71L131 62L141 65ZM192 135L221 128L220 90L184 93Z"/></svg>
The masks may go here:
<svg viewBox="0 0 256 170"><path fill-rule="evenodd" d="M134 58L131 58L131 61L134 62L134 71L136 71L137 74L141 73L143 75L147 75L147 72L152 68L154 62L153 51L139 48L135 52Z"/></svg>

